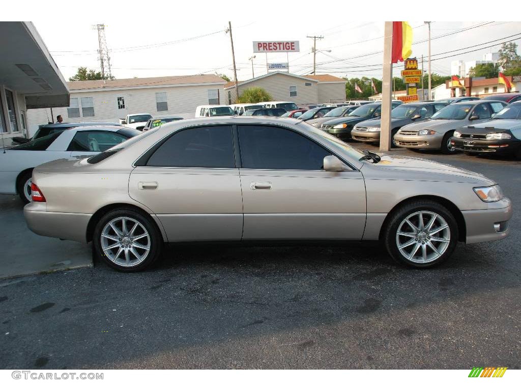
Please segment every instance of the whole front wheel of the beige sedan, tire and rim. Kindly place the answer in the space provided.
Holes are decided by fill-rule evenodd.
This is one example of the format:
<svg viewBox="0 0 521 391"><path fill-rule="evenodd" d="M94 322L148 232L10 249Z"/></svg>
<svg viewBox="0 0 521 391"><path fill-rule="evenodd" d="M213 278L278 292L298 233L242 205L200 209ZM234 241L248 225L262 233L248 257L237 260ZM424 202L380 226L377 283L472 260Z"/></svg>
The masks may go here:
<svg viewBox="0 0 521 391"><path fill-rule="evenodd" d="M456 247L457 223L441 204L415 201L396 211L386 229L386 247L396 261L429 267L445 261Z"/></svg>

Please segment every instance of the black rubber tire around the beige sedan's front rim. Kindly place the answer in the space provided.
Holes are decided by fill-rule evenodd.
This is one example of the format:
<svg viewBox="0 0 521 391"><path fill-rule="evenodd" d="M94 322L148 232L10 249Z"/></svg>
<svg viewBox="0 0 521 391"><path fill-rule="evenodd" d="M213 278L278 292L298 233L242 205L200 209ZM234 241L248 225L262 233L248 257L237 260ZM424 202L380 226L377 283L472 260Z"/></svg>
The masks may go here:
<svg viewBox="0 0 521 391"><path fill-rule="evenodd" d="M438 256L438 258L425 262L425 263L422 263L420 261L414 261L414 258L413 258L413 260L407 259L399 250L398 239L397 239L398 229L400 228L402 223L405 221L405 218L410 215L413 215L414 213L420 212L420 211L436 213L439 216L441 216L444 219L444 221L446 222L446 224L448 225L448 229L449 229L449 233L450 233L450 239L447 239L447 240L449 240L448 245L446 245L446 248L443 250L441 256ZM429 215L427 215L427 214L423 216L424 224L425 224L426 219L428 221L428 218L429 218ZM412 221L413 221L414 225L416 225L416 224L419 225L419 217L417 219L416 224L414 223L414 219ZM441 220L438 219L438 222L440 222L440 221ZM418 225L416 225L416 227L418 227ZM440 226L441 226L441 224L440 224ZM435 225L433 227L434 227L433 230L435 230L439 226ZM403 228L402 228L402 230L403 230ZM424 234L424 235L429 235L429 234ZM436 234L430 234L430 235L432 235L433 237L436 237L435 236ZM400 236L400 238L402 238L402 237ZM404 238L403 239L404 242L406 242L407 240L411 240L411 241L415 240L414 237L411 237L411 239L407 239L407 237L405 236L403 238ZM429 238L428 241L431 242L433 245L444 246L444 244L439 241L436 241L436 242L431 241L430 236L428 238ZM452 213L448 209L446 209L446 207L441 205L440 203L435 202L435 201L430 201L430 200L417 200L417 201L408 203L406 205L403 205L398 210L393 212L393 214L391 215L391 217L386 225L386 228L384 230L383 241L384 241L384 245L386 246L387 251L389 252L389 255L391 255L391 258L394 259L395 261L408 265L408 266L414 266L417 268L426 268L426 267L438 265L438 264L446 261L451 256L452 252L456 248L457 241L458 241L458 226L457 226L456 220L455 220L454 216L452 215ZM401 244L402 245L405 244L404 242L401 242ZM417 242L417 240L415 242L413 242L414 246L416 246L416 242ZM426 242L427 242L427 240L426 240ZM413 245L411 245L411 246L413 246ZM421 243L418 242L418 245L421 246ZM417 247L412 248L411 252L413 252L415 248L417 248ZM427 251L430 252L430 254L431 254L430 256L436 256L432 250L429 250L429 247L427 245L426 245L426 248L428 249ZM417 248L417 249L420 250L421 247ZM407 251L407 250L404 250L404 251ZM413 257L415 254L416 253L413 253ZM428 258L428 257L429 257L429 255L427 255L426 258Z"/></svg>

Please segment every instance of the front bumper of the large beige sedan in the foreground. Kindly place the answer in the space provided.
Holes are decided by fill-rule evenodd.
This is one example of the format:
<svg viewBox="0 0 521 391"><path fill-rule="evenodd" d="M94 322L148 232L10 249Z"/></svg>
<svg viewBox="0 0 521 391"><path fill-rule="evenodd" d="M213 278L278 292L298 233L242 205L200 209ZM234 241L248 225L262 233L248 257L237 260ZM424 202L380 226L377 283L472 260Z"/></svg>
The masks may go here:
<svg viewBox="0 0 521 391"><path fill-rule="evenodd" d="M467 228L466 243L488 242L504 239L510 233L508 220L512 217L512 203L505 198L500 203L506 205L500 209L462 211ZM499 227L494 227L499 224Z"/></svg>

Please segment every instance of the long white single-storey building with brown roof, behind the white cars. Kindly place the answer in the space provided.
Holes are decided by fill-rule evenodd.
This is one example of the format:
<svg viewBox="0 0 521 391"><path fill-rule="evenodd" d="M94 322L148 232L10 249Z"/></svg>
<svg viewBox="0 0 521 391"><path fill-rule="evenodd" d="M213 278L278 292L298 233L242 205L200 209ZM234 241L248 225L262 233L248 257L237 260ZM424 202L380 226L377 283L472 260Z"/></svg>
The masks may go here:
<svg viewBox="0 0 521 391"><path fill-rule="evenodd" d="M226 103L225 83L216 75L69 81L69 107L53 109L54 118L50 109L30 110L29 131L57 115L64 122L118 122L132 113L193 118L199 105Z"/></svg>

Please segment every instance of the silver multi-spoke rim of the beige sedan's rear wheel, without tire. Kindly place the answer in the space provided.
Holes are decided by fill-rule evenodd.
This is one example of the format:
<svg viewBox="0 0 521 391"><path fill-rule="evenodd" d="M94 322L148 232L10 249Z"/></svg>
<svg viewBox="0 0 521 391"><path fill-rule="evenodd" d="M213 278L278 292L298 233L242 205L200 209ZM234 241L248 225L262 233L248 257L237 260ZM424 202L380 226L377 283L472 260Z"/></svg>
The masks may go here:
<svg viewBox="0 0 521 391"><path fill-rule="evenodd" d="M150 234L143 224L133 218L117 217L103 227L101 248L116 265L139 265L150 253L150 246Z"/></svg>

